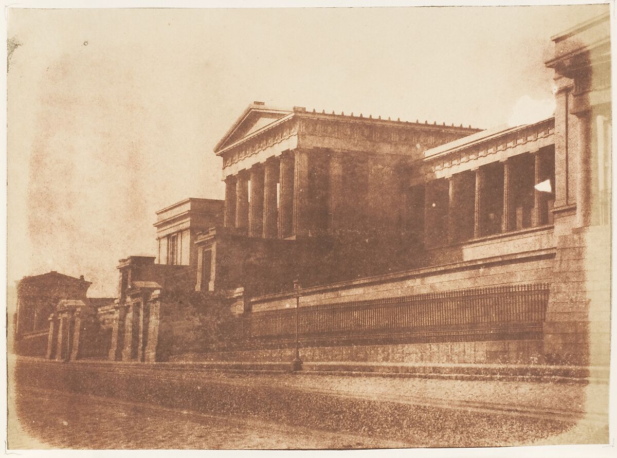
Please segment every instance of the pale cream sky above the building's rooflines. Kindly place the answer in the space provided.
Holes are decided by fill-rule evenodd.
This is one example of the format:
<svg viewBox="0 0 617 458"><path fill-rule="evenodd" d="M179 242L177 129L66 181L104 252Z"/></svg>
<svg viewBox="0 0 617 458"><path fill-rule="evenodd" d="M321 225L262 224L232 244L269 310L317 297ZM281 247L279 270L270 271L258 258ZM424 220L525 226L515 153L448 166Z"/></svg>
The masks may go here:
<svg viewBox="0 0 617 458"><path fill-rule="evenodd" d="M8 9L8 280L115 296L155 210L223 198L213 146L252 101L489 128L549 117L550 36L607 5Z"/></svg>

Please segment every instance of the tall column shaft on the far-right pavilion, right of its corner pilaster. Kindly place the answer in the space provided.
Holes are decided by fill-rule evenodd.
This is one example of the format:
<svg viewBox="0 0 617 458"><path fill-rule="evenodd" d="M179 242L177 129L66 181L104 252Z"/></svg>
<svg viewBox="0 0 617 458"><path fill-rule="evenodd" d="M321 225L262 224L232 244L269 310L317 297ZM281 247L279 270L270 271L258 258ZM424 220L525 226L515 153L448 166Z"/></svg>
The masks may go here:
<svg viewBox="0 0 617 458"><path fill-rule="evenodd" d="M579 115L579 174L576 186L576 225L587 227L591 223L591 125L589 113Z"/></svg>

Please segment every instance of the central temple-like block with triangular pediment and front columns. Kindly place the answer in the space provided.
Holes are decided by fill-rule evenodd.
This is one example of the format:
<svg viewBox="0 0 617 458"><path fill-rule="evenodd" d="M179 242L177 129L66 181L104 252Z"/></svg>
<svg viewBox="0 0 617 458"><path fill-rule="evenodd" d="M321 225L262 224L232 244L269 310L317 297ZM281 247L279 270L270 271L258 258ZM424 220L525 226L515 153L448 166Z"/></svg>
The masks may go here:
<svg viewBox="0 0 617 458"><path fill-rule="evenodd" d="M223 157L224 225L280 239L391 228L382 220L397 219L401 205L379 205L383 188L402 191L405 166L424 149L476 131L255 102L215 148Z"/></svg>

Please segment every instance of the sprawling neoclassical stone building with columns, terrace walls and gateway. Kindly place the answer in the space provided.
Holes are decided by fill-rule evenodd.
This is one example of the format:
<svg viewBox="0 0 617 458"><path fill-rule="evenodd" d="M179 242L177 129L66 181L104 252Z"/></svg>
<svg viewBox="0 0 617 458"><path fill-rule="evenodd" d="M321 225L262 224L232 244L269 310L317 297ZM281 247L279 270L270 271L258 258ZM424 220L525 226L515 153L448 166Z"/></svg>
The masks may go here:
<svg viewBox="0 0 617 458"><path fill-rule="evenodd" d="M121 260L106 356L291 361L297 319L304 360L608 365L608 14L552 40L557 109L528 125L251 104L215 147L225 201L161 210L158 256ZM224 338L184 345L213 298Z"/></svg>

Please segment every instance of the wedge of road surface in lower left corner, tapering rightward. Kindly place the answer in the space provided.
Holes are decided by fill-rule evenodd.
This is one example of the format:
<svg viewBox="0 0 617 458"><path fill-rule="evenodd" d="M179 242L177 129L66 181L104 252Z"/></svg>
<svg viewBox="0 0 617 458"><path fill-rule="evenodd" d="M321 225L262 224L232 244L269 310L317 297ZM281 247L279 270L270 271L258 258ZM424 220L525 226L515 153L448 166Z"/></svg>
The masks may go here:
<svg viewBox="0 0 617 458"><path fill-rule="evenodd" d="M10 449L405 448L373 439L262 419L201 414L143 402L27 388L9 420Z"/></svg>

